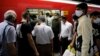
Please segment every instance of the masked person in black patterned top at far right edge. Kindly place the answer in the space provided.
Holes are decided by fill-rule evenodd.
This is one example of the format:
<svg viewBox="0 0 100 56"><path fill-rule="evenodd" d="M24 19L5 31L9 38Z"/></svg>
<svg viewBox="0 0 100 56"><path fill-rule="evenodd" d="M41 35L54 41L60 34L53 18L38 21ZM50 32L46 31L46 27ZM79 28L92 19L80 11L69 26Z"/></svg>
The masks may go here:
<svg viewBox="0 0 100 56"><path fill-rule="evenodd" d="M100 55L100 21L99 21L99 12L94 11L90 14L90 18L92 20L92 26L93 26L93 40L94 40L94 45L98 48L99 55ZM95 47L95 48L96 48Z"/></svg>

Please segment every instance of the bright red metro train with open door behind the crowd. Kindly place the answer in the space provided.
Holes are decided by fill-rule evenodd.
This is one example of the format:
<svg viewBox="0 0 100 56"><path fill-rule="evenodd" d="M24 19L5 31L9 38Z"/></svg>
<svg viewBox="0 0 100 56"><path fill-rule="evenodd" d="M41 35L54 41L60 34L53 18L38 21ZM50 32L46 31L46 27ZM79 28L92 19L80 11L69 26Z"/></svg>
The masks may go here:
<svg viewBox="0 0 100 56"><path fill-rule="evenodd" d="M61 10L72 22L72 14L76 5L80 2L60 0L1 0L0 1L0 22L3 21L4 12L12 9L17 13L17 23L21 21L21 15L27 8ZM88 12L100 11L100 5L88 4Z"/></svg>

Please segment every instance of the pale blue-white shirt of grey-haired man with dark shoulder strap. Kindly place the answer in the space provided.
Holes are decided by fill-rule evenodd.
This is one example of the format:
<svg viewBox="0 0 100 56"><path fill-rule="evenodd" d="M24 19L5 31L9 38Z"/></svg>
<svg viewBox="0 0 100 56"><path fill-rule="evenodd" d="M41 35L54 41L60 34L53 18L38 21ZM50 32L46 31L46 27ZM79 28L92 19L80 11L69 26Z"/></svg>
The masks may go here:
<svg viewBox="0 0 100 56"><path fill-rule="evenodd" d="M10 23L8 21L4 21L0 23L0 42L2 42L2 37L3 37L3 31L5 26ZM12 24L12 23L10 23ZM12 24L13 25L13 24ZM7 39L7 43L13 43L16 42L16 31L14 26L8 25L7 28L5 29L5 38Z"/></svg>

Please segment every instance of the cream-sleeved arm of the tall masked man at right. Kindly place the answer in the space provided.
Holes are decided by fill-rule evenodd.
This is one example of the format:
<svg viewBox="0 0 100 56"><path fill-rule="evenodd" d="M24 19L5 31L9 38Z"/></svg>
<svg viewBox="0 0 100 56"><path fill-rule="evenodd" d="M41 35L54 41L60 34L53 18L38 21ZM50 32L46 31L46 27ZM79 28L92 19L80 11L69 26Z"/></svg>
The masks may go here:
<svg viewBox="0 0 100 56"><path fill-rule="evenodd" d="M88 51L89 51L89 44L90 44L90 39L92 35L92 25L90 22L83 21L82 22L82 54L81 56L89 56Z"/></svg>

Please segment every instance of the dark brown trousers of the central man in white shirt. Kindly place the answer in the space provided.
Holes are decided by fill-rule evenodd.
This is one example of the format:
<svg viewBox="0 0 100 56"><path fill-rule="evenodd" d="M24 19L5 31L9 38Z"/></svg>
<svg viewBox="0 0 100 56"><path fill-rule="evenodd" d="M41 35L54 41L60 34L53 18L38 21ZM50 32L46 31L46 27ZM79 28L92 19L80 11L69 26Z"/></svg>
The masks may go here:
<svg viewBox="0 0 100 56"><path fill-rule="evenodd" d="M38 52L40 56L52 56L52 46L51 44L37 45Z"/></svg>

